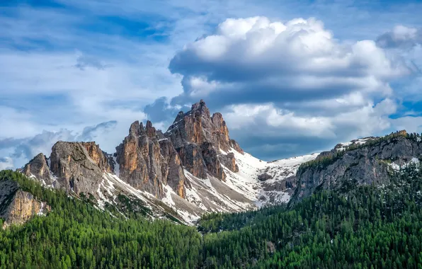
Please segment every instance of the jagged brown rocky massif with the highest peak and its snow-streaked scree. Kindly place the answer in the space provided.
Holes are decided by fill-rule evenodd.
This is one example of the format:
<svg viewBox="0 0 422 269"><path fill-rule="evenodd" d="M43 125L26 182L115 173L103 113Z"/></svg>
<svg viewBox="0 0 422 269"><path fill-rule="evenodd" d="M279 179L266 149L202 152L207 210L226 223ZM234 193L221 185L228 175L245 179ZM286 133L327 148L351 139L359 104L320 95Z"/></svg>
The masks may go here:
<svg viewBox="0 0 422 269"><path fill-rule="evenodd" d="M108 204L118 206L116 197L127 195L152 207L184 205L182 211L198 217L205 209L243 210L251 205L249 198L231 187L226 189L222 182L226 181L227 169L239 172L236 151L246 156L230 139L222 114L210 115L201 100L187 113L178 113L165 134L150 121L145 125L133 122L113 156L95 142L57 142L50 158L39 154L22 172L72 195L91 194L100 209ZM209 175L209 181L203 181ZM241 177L233 173L229 176L230 183Z"/></svg>

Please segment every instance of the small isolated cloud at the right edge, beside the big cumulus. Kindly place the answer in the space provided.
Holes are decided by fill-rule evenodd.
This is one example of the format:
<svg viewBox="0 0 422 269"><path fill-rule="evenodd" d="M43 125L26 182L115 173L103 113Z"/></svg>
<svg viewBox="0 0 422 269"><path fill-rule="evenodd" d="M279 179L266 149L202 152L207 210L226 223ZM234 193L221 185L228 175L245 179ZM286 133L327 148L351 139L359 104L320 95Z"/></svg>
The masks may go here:
<svg viewBox="0 0 422 269"><path fill-rule="evenodd" d="M422 44L422 28L406 27L397 25L392 30L380 35L377 44L386 48L411 49Z"/></svg>

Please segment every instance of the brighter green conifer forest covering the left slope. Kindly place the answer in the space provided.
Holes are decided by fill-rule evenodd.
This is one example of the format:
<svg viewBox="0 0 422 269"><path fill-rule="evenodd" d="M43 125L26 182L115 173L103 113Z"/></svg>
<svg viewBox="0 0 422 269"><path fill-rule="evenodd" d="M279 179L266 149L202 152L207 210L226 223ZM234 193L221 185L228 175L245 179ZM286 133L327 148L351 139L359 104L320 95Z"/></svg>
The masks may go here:
<svg viewBox="0 0 422 269"><path fill-rule="evenodd" d="M194 227L118 212L42 188L21 173L1 171L47 202L52 212L0 231L0 268L195 268L201 236Z"/></svg>

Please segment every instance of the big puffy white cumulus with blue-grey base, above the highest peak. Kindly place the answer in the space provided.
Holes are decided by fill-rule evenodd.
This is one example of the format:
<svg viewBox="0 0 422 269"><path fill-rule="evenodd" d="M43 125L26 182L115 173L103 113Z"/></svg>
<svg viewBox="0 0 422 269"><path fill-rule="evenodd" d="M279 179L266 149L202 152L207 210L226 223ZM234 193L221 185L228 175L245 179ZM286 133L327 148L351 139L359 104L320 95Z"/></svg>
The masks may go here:
<svg viewBox="0 0 422 269"><path fill-rule="evenodd" d="M263 103L387 96L388 81L408 74L372 40L341 43L314 18L287 23L265 17L227 19L215 34L178 52L169 69L183 76L173 104Z"/></svg>

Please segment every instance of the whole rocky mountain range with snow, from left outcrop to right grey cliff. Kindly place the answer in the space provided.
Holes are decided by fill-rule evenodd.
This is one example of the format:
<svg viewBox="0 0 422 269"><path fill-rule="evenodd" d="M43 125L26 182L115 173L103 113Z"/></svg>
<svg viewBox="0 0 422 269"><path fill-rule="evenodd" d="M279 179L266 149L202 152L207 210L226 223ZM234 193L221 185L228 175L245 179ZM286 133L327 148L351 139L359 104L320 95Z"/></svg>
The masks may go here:
<svg viewBox="0 0 422 269"><path fill-rule="evenodd" d="M420 137L400 131L320 154L263 161L229 137L222 114L211 115L203 100L178 113L164 133L150 121L133 122L115 149L108 154L95 142L59 141L50 156L40 153L19 171L47 188L88 199L99 210L195 224L205 213L294 204L321 189L387 184L391 171L422 156ZM4 227L49 210L18 186L3 184Z"/></svg>

